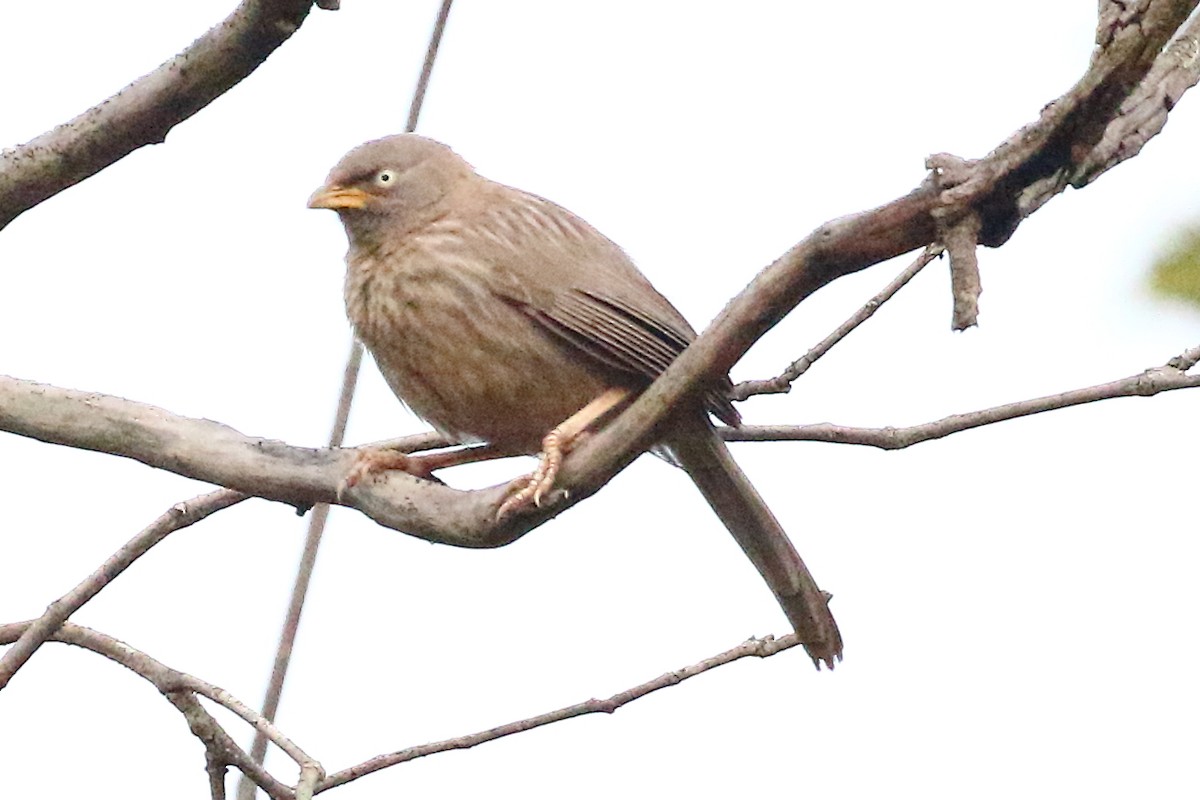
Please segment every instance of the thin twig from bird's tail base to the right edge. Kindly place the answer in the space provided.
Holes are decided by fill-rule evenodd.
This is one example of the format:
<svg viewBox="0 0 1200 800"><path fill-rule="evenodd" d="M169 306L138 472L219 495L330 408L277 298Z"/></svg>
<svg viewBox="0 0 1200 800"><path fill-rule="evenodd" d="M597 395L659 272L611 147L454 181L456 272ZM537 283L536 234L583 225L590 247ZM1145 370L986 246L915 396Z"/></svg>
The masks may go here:
<svg viewBox="0 0 1200 800"><path fill-rule="evenodd" d="M1200 361L1200 347L1186 350L1162 367L1153 367L1120 380L1060 395L996 405L970 414L953 414L934 422L905 428L852 428L822 422L818 425L748 425L739 428L724 427L719 428L719 432L726 441L829 441L868 445L882 450L901 450L960 431L1042 414L1043 411L1054 411L1116 397L1152 397L1176 389L1194 389L1200 386L1200 374L1190 375L1186 371L1194 367L1198 361Z"/></svg>

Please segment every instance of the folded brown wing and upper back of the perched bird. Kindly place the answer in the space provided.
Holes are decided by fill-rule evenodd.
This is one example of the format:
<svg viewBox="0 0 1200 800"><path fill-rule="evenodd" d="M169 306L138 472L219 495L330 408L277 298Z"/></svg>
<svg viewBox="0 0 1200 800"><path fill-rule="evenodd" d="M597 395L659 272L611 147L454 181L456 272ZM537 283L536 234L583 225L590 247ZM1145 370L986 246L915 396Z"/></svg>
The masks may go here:
<svg viewBox="0 0 1200 800"><path fill-rule="evenodd" d="M650 383L696 338L688 320L604 234L539 197L493 185L505 203L486 204L474 228L511 258L493 265L503 296L547 332L611 369ZM722 378L706 395L727 425L739 416Z"/></svg>

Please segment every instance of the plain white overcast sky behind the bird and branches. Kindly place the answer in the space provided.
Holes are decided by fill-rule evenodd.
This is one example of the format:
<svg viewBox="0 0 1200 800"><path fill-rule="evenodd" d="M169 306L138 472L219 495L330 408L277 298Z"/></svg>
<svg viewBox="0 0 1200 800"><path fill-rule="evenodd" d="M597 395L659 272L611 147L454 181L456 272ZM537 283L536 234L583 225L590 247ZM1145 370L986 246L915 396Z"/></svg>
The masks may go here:
<svg viewBox="0 0 1200 800"><path fill-rule="evenodd" d="M233 5L7 4L0 144L107 97ZM350 146L402 128L437 5L313 12L164 145L19 217L0 234L0 373L320 445L349 344L346 242L305 200ZM1096 12L730 7L460 0L420 131L589 219L702 327L821 222L916 186L928 154L982 156L1034 119L1086 68ZM950 332L935 264L791 395L742 404L748 421L923 422L1196 344L1200 315L1150 297L1144 276L1200 215L1198 137L1188 95L1144 155L982 251L978 330ZM908 258L822 290L734 378L781 371ZM1182 796L1200 777L1198 398L1106 402L893 453L736 445L836 595L835 673L800 650L743 661L336 796ZM349 441L420 429L368 366ZM10 435L0 476L4 621L40 614L210 488ZM223 511L74 619L258 704L305 525L266 501ZM334 771L772 632L786 624L769 591L683 474L653 458L496 552L335 510L278 722ZM6 795L199 799L203 764L179 714L96 655L48 644L0 693ZM269 765L294 781L283 759Z"/></svg>

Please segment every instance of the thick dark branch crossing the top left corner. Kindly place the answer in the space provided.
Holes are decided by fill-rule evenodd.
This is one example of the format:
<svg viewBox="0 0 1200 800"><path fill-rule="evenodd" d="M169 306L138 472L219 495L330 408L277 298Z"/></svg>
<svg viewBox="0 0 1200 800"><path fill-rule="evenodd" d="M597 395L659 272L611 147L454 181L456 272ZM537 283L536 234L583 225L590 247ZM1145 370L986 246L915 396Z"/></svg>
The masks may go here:
<svg viewBox="0 0 1200 800"><path fill-rule="evenodd" d="M312 0L244 0L154 72L70 122L0 152L0 229L138 148L157 144L300 28Z"/></svg>

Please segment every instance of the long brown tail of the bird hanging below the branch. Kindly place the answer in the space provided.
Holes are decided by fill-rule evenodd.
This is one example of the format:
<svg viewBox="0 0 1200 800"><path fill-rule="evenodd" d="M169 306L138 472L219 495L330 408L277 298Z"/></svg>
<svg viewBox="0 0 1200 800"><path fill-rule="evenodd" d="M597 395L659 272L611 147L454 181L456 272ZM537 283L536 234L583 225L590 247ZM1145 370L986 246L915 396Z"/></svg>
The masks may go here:
<svg viewBox="0 0 1200 800"><path fill-rule="evenodd" d="M829 597L817 588L799 553L728 447L706 420L670 439L679 465L700 487L708 505L770 587L812 663L833 669L841 660L841 633L829 613Z"/></svg>

